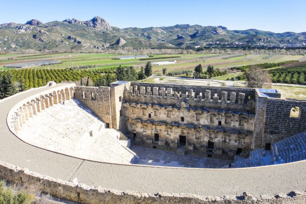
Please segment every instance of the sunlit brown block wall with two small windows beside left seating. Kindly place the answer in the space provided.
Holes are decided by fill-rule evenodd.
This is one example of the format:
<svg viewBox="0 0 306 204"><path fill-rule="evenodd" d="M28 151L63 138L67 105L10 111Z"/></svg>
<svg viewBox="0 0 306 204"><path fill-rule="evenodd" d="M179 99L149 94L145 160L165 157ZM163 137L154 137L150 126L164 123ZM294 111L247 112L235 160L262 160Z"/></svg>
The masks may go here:
<svg viewBox="0 0 306 204"><path fill-rule="evenodd" d="M95 97L92 97L95 94ZM76 98L112 128L110 87L76 87Z"/></svg>

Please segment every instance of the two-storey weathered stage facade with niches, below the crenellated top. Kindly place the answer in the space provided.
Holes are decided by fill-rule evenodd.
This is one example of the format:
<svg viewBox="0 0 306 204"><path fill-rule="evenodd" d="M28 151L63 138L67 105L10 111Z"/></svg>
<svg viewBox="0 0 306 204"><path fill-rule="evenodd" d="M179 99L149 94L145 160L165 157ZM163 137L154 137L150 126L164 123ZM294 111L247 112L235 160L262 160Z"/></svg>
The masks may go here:
<svg viewBox="0 0 306 204"><path fill-rule="evenodd" d="M241 156L249 154L252 113L128 102L123 106L127 130L137 145L175 151L181 147L181 135L186 137L186 153L234 159L237 148L241 148ZM154 134L159 134L159 141ZM214 148L208 148L208 140L214 142Z"/></svg>

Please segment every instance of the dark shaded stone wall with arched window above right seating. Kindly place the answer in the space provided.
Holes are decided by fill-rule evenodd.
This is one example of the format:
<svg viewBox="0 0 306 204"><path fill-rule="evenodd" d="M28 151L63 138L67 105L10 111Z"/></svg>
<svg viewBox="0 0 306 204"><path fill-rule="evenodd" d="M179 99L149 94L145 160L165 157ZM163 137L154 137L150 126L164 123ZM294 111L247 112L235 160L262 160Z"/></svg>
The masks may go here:
<svg viewBox="0 0 306 204"><path fill-rule="evenodd" d="M300 117L290 117L291 108L300 107ZM306 101L297 99L266 99L262 147L276 143L306 130Z"/></svg>

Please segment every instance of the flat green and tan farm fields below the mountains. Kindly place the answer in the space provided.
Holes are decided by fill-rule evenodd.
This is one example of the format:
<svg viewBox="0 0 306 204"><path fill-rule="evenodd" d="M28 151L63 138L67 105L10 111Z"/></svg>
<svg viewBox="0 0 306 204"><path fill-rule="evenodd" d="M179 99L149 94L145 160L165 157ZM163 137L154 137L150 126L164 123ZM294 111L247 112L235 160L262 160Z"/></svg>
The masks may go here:
<svg viewBox="0 0 306 204"><path fill-rule="evenodd" d="M133 54L125 54L133 55ZM170 61L176 60L174 65L162 65L153 66L153 73L161 73L162 68L166 67L167 71L174 70L193 70L198 64L201 64L203 71L206 70L207 65L214 65L215 68L221 70L229 69L234 66L242 65L253 65L260 63L273 63L282 62L288 60L303 60L305 59L302 55L282 55L276 54L273 57L265 58L269 54L250 54L240 57L234 57L230 59L222 59L224 57L234 56L236 54L164 54L164 55L154 55L154 57L169 57L169 56L180 56L179 58L172 59L158 59L151 60L151 62L159 61ZM50 69L65 69L66 67L78 67L84 65L96 65L97 69L117 67L119 65L123 66L134 66L137 70L141 66L144 66L147 61L140 61L139 59L122 59L113 60L115 56L120 56L118 54L93 54L93 53L61 53L61 54L1 54L0 55L0 70L2 66L11 63L19 62L30 62L30 61L40 61L40 60L59 60L63 63L60 65L52 65ZM121 55L124 56L124 55ZM9 59L9 61L7 61ZM205 62L204 62L205 61ZM32 67L30 69L47 69L47 66ZM14 69L14 68L4 68L4 70ZM95 69L95 68L90 68ZM222 76L218 79L223 79ZM229 76L226 76L226 78ZM225 78L225 79L226 79Z"/></svg>

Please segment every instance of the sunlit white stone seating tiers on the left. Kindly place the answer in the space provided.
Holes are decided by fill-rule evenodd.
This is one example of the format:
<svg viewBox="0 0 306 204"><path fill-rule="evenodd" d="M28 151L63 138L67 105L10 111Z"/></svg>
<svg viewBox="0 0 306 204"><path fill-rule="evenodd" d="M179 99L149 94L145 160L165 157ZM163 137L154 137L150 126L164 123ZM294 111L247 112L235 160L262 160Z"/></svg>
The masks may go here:
<svg viewBox="0 0 306 204"><path fill-rule="evenodd" d="M92 135L92 136L91 136ZM74 157L110 163L135 163L129 140L77 99L54 104L29 118L18 136L37 147Z"/></svg>

